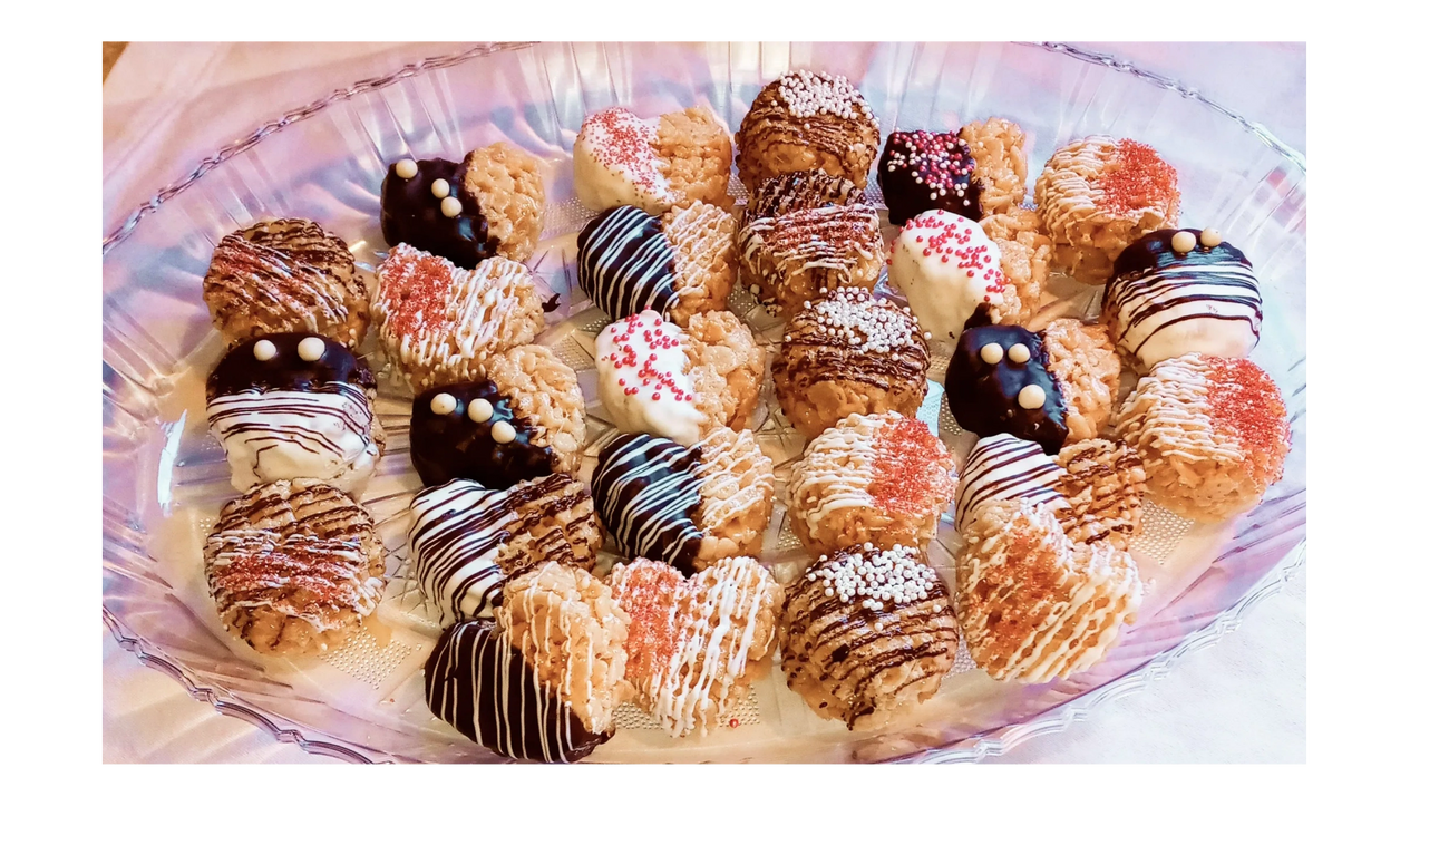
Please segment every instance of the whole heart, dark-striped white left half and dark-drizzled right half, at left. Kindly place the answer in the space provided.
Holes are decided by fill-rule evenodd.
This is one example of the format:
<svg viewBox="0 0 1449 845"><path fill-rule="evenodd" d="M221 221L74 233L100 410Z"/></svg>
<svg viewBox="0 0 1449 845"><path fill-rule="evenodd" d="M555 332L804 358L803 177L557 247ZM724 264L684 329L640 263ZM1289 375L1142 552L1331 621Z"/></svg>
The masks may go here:
<svg viewBox="0 0 1449 845"><path fill-rule="evenodd" d="M413 497L413 577L443 625L493 616L503 584L554 561L594 568L603 544L594 500L564 473L488 490L458 478Z"/></svg>

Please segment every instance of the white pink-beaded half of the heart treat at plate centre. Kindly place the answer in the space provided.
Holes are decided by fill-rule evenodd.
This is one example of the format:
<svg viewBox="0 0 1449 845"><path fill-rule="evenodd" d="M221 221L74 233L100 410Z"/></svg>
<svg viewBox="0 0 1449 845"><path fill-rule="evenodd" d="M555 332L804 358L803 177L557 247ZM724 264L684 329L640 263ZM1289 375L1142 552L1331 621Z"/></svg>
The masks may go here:
<svg viewBox="0 0 1449 845"><path fill-rule="evenodd" d="M596 338L598 399L622 432L646 432L691 446L706 416L685 374L684 332L646 310Z"/></svg>

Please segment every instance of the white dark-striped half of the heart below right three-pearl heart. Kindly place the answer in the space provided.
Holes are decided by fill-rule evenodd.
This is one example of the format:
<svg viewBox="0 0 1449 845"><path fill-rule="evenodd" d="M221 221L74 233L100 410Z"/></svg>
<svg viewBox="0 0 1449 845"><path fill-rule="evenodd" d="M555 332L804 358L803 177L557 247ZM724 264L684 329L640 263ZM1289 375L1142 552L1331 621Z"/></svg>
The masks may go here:
<svg viewBox="0 0 1449 845"><path fill-rule="evenodd" d="M1048 510L1065 507L1066 499L1056 488L1062 475L1061 465L1037 442L1004 433L981 438L961 467L956 530L964 530L988 501L1020 499Z"/></svg>

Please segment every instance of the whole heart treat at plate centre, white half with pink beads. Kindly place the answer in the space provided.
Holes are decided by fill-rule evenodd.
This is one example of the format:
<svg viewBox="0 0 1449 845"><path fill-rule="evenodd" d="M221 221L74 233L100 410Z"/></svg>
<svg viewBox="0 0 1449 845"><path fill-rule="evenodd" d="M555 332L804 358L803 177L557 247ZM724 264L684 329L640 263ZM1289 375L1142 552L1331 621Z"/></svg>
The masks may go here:
<svg viewBox="0 0 1449 845"><path fill-rule="evenodd" d="M719 426L742 429L759 399L765 352L730 312L690 317L688 329L643 312L594 339L598 397L622 432L690 446Z"/></svg>

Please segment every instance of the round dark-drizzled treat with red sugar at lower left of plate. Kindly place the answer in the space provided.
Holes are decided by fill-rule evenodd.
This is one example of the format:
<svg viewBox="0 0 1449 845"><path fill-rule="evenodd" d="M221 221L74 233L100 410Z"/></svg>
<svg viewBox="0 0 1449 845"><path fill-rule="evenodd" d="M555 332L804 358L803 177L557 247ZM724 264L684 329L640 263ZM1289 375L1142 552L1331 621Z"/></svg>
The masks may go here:
<svg viewBox="0 0 1449 845"><path fill-rule="evenodd" d="M383 599L383 541L346 493L274 481L222 507L206 583L222 625L256 652L301 657L346 642Z"/></svg>

